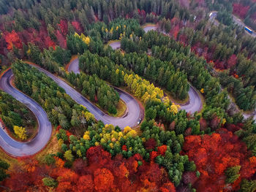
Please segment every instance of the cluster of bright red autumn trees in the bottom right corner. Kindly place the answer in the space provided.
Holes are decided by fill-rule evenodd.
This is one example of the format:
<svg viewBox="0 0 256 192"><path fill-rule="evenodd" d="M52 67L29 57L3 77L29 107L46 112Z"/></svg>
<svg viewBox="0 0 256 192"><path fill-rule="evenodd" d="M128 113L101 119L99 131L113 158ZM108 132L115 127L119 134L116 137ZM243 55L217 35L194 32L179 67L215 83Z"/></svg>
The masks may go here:
<svg viewBox="0 0 256 192"><path fill-rule="evenodd" d="M255 158L249 158L246 145L225 128L203 137L186 137L184 151L190 161L195 161L200 172L198 180L193 173L184 174L186 180L195 183L197 191L237 190L241 179L252 177L256 171ZM241 166L240 177L234 183L226 184L225 170L232 166Z"/></svg>

